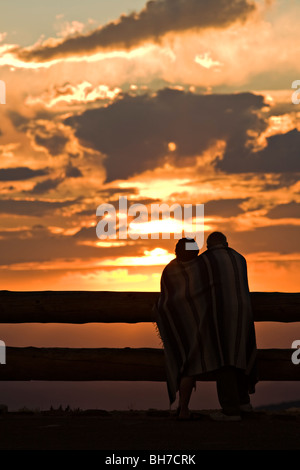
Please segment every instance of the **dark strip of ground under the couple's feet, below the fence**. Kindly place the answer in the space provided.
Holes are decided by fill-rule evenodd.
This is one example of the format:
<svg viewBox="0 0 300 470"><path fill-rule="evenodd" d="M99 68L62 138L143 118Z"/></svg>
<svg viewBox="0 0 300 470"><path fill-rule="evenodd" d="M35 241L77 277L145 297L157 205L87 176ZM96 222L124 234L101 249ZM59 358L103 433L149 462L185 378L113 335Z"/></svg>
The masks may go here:
<svg viewBox="0 0 300 470"><path fill-rule="evenodd" d="M209 413L181 422L164 410L7 412L0 450L300 450L300 409L230 423Z"/></svg>

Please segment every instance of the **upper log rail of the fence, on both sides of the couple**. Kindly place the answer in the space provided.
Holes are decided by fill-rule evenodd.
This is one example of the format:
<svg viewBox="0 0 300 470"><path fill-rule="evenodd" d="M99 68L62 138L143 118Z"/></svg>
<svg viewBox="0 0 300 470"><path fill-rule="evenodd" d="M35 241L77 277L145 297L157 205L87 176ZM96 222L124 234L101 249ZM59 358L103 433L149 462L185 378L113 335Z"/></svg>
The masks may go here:
<svg viewBox="0 0 300 470"><path fill-rule="evenodd" d="M0 291L0 323L153 322L158 292ZM252 292L255 321L300 321L300 293Z"/></svg>

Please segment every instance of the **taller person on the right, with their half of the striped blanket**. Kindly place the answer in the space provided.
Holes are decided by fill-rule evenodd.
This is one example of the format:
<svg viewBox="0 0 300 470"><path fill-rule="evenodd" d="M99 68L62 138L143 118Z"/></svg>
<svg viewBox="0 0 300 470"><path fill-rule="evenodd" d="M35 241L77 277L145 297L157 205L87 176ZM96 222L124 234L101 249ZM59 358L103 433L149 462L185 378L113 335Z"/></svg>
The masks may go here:
<svg viewBox="0 0 300 470"><path fill-rule="evenodd" d="M245 258L228 246L225 235L213 232L200 262L210 266L210 293L217 301L219 353L223 366L217 371L217 392L222 412L213 419L237 419L251 411L249 392L256 383L256 340ZM206 268L205 268L206 269Z"/></svg>

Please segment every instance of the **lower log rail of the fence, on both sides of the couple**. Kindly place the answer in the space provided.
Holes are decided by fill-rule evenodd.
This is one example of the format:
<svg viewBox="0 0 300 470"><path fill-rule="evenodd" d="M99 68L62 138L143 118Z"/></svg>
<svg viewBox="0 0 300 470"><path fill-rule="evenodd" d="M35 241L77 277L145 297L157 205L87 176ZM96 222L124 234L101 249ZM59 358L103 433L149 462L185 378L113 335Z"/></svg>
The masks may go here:
<svg viewBox="0 0 300 470"><path fill-rule="evenodd" d="M291 361L292 349L258 350L262 381L300 380L300 365ZM7 347L0 381L152 381L166 380L162 349L16 348ZM215 380L214 374L198 377Z"/></svg>

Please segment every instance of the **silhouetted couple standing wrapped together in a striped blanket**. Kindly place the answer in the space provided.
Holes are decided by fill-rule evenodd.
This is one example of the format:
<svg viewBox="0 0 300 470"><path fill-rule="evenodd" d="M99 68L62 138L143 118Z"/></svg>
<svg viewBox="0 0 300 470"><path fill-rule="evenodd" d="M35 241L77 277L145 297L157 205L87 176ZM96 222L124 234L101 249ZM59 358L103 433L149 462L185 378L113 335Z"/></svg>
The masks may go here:
<svg viewBox="0 0 300 470"><path fill-rule="evenodd" d="M222 410L216 420L240 420L251 411L256 340L247 264L213 232L199 255L192 239L179 240L176 258L163 270L156 321L164 344L170 403L179 392L179 419L189 419L195 380L214 373Z"/></svg>

